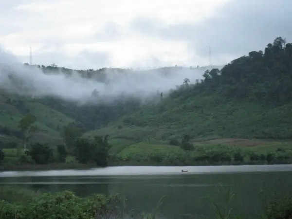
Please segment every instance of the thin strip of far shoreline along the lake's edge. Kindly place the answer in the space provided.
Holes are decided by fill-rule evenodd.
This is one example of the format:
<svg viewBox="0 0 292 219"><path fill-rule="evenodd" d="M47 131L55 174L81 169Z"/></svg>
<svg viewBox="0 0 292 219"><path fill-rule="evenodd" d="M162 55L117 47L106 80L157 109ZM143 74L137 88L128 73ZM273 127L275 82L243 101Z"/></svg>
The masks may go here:
<svg viewBox="0 0 292 219"><path fill-rule="evenodd" d="M114 166L238 166L238 165L273 165L273 164L292 164L290 161L280 161L280 162L273 162L267 163L262 161L255 161L255 162L200 162L196 164L166 164L166 163L151 163L151 162L136 162L136 161L126 161L126 162L110 162L108 167ZM14 165L0 165L0 172L9 172L9 171L46 171L46 170L64 170L64 169L71 169L71 170L87 170L91 168L98 168L100 166L96 166L94 164L78 164L78 163L64 163L64 164L14 164ZM102 167L100 167L102 168Z"/></svg>

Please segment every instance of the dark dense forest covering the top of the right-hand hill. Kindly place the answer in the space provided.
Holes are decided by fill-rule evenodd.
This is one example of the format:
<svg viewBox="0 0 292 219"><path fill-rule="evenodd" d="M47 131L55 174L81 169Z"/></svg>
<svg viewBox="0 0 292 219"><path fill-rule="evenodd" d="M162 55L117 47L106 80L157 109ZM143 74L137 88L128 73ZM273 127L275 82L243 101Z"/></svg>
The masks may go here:
<svg viewBox="0 0 292 219"><path fill-rule="evenodd" d="M264 51L252 51L225 65L207 70L189 95L217 92L225 98L281 106L292 100L292 43L276 37ZM189 86L181 86L181 91ZM172 96L180 95L173 91Z"/></svg>

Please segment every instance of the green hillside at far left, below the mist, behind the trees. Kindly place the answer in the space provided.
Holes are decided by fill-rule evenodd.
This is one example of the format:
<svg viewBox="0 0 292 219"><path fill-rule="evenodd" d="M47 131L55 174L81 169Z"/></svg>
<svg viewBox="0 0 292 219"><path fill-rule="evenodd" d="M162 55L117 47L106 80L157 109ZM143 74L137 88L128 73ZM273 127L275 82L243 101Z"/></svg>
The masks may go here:
<svg viewBox="0 0 292 219"><path fill-rule="evenodd" d="M39 128L39 131L33 135L32 142L48 143L52 146L62 143L61 128L74 122L65 114L33 99L2 91L0 94L0 142L20 144L21 132L18 128L18 122L27 113L32 113L37 117L36 125Z"/></svg>

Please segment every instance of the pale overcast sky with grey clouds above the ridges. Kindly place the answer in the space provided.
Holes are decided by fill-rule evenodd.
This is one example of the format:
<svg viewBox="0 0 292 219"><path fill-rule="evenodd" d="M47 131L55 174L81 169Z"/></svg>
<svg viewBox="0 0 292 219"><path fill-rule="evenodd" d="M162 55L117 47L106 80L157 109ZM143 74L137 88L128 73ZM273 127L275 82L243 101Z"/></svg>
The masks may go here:
<svg viewBox="0 0 292 219"><path fill-rule="evenodd" d="M75 69L225 64L292 40L292 0L1 0L0 45Z"/></svg>

